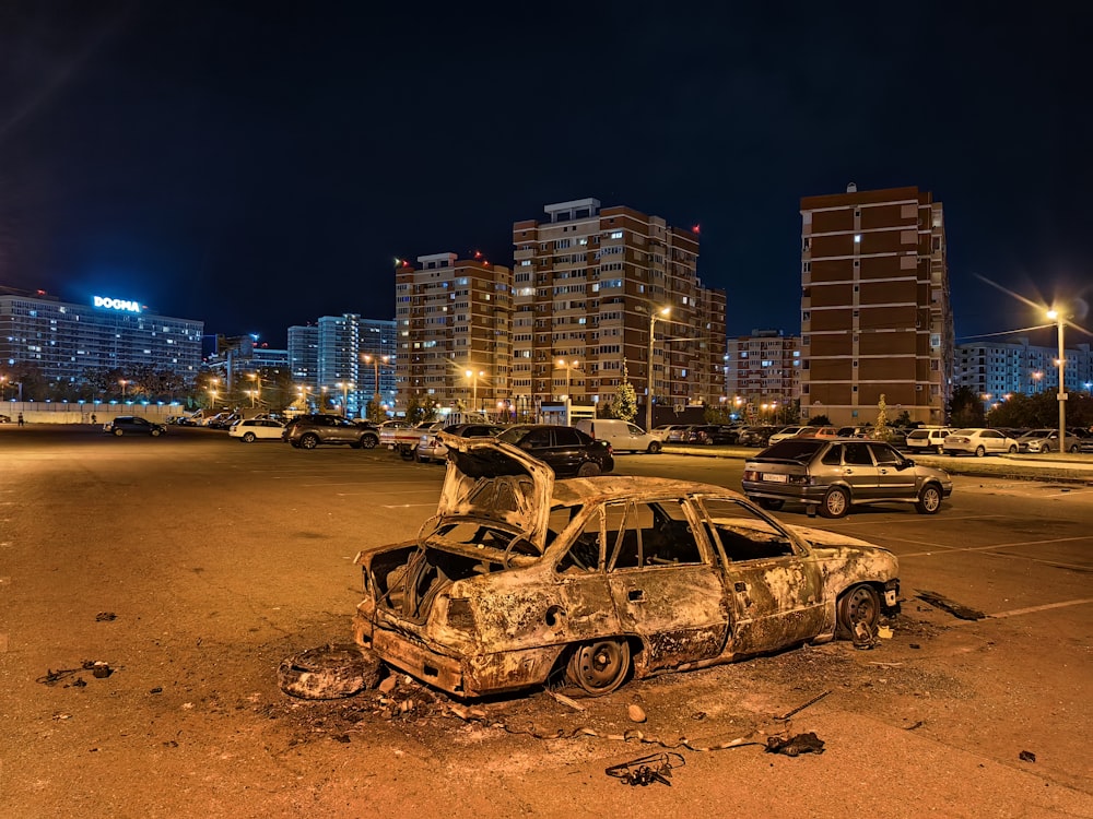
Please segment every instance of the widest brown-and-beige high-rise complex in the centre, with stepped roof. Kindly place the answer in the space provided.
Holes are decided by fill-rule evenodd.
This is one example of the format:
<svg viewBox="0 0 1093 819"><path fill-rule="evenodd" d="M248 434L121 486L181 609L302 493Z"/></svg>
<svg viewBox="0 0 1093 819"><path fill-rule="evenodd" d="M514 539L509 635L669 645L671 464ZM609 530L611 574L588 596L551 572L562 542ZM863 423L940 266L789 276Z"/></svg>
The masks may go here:
<svg viewBox="0 0 1093 819"><path fill-rule="evenodd" d="M596 199L544 212L513 225L517 405L611 401L624 368L639 403L721 403L725 292L698 280L697 232Z"/></svg>

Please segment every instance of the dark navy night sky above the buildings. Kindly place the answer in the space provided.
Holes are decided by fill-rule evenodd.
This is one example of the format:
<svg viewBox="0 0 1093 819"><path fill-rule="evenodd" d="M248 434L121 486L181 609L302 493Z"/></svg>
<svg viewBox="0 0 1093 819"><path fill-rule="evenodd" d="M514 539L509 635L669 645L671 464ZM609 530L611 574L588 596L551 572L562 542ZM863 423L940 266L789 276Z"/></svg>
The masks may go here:
<svg viewBox="0 0 1093 819"><path fill-rule="evenodd" d="M282 346L595 197L796 334L799 200L854 181L944 203L959 340L1044 321L978 276L1093 323L1091 4L825 5L5 0L0 284Z"/></svg>

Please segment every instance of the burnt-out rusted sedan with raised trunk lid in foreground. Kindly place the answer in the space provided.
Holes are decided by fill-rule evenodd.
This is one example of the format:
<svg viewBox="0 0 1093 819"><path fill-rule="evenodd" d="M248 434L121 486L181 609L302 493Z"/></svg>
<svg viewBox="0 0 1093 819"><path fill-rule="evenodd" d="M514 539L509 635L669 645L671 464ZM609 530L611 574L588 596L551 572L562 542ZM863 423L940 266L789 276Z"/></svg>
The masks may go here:
<svg viewBox="0 0 1093 819"><path fill-rule="evenodd" d="M836 636L896 605L896 558L787 526L719 486L555 480L498 439L440 435L448 464L419 536L364 551L354 637L458 697L630 678Z"/></svg>

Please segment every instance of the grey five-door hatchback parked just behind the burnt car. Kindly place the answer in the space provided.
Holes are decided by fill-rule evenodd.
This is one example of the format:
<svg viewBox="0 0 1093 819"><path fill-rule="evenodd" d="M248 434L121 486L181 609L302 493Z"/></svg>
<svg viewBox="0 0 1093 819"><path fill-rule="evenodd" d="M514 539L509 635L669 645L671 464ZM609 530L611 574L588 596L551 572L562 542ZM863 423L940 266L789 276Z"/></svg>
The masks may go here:
<svg viewBox="0 0 1093 819"><path fill-rule="evenodd" d="M919 466L884 441L789 438L744 463L743 490L765 509L787 500L842 518L860 503L914 503L936 514L953 490L942 470Z"/></svg>

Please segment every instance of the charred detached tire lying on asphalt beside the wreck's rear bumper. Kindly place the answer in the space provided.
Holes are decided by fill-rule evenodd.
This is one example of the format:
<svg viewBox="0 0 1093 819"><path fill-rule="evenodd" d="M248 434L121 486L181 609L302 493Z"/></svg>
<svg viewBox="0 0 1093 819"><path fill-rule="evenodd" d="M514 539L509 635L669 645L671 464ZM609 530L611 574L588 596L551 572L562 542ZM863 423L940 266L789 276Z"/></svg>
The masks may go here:
<svg viewBox="0 0 1093 819"><path fill-rule="evenodd" d="M290 697L337 700L375 688L384 664L356 645L321 645L281 661L278 685Z"/></svg>

